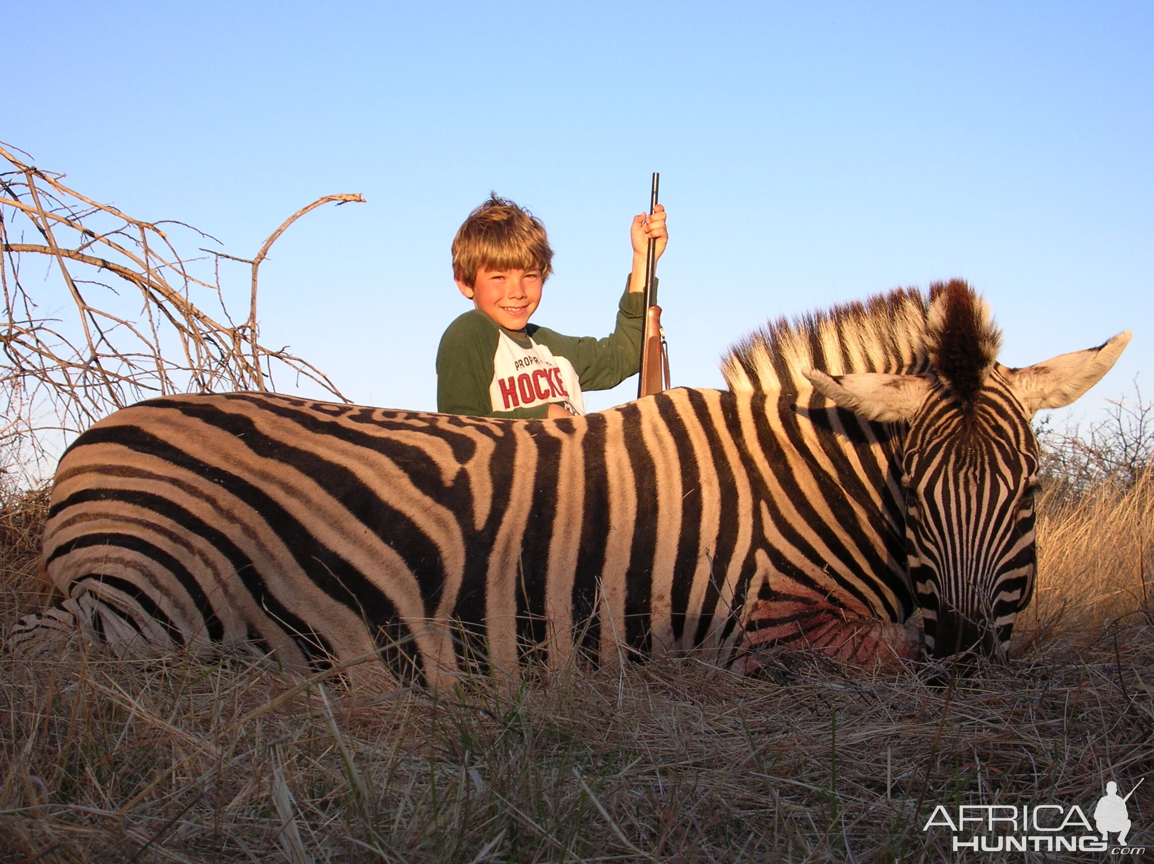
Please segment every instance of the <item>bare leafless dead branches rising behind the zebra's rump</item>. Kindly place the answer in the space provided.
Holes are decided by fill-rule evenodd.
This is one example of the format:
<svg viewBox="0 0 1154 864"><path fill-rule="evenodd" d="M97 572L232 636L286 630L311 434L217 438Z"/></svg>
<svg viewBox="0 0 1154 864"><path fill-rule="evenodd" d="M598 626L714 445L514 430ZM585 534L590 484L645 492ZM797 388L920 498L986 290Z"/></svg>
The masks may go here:
<svg viewBox="0 0 1154 864"><path fill-rule="evenodd" d="M252 259L198 245L209 256L185 258L177 246L186 232L197 244L215 238L181 222L133 218L14 149L0 146L0 467L21 461L21 449L25 463L43 457L48 438L62 440L142 397L273 389L275 370L344 400L316 366L260 343L257 276L293 222L361 195L301 208ZM228 313L222 259L250 268L243 323Z"/></svg>

